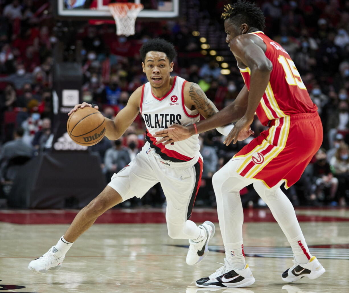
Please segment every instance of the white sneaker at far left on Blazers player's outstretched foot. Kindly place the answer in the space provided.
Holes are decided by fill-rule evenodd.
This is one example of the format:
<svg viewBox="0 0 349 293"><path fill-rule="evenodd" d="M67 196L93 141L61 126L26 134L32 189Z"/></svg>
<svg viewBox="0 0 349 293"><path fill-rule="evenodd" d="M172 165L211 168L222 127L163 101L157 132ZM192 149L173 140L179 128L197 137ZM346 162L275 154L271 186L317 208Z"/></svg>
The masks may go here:
<svg viewBox="0 0 349 293"><path fill-rule="evenodd" d="M52 246L43 256L32 260L28 269L37 274L44 274L47 271L58 271L64 260L65 256L61 256L61 252Z"/></svg>

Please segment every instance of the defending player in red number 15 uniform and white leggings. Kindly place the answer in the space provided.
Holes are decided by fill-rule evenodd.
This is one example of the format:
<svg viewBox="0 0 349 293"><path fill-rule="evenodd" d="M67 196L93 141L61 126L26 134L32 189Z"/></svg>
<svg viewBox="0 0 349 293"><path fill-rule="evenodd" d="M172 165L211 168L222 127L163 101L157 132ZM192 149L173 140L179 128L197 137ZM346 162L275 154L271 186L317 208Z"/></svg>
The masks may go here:
<svg viewBox="0 0 349 293"><path fill-rule="evenodd" d="M250 127L254 114L269 129L240 150L213 176L218 219L225 246L224 265L199 287L245 287L254 283L245 263L242 241L243 209L239 191L253 184L267 203L287 237L294 253L294 265L282 274L286 282L303 277L315 279L325 272L310 254L295 210L280 185L288 188L303 173L322 143L322 125L288 53L262 30L265 17L248 1L226 5L222 14L226 41L244 78L245 86L236 100L220 112L196 125L172 126L158 131L164 144L186 139L237 121L225 139L236 143L241 131Z"/></svg>

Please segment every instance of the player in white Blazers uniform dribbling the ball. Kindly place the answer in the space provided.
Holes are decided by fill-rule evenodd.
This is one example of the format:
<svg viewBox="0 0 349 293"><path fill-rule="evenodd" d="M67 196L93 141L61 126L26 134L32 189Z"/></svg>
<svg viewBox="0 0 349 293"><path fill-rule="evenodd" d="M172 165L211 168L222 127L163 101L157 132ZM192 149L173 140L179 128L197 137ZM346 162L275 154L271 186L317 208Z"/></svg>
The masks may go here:
<svg viewBox="0 0 349 293"><path fill-rule="evenodd" d="M198 135L169 145L155 144L156 131L173 123L188 126L218 112L201 88L180 77L171 77L176 51L173 45L162 39L149 40L140 49L143 72L149 80L129 98L127 106L114 120L105 118L106 137L117 140L141 113L147 127L146 144L131 163L117 174L101 194L84 207L72 224L43 256L32 260L28 269L36 273L59 270L65 255L75 240L96 221L97 217L133 196L141 198L153 185L160 182L167 206L166 223L171 238L188 239L190 246L186 257L188 265L199 263L208 253L208 242L215 227L206 221L200 226L189 219L200 187L202 157L199 153ZM78 108L91 107L88 103ZM98 109L98 106L95 106ZM218 131L228 135L232 124ZM242 133L239 140L252 131Z"/></svg>

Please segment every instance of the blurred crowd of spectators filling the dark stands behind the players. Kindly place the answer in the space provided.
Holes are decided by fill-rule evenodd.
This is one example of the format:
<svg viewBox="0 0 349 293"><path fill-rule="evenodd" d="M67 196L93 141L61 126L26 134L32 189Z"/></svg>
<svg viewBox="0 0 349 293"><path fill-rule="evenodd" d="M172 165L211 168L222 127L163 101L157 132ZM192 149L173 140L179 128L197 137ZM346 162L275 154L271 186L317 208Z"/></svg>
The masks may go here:
<svg viewBox="0 0 349 293"><path fill-rule="evenodd" d="M184 3L185 2L185 3ZM146 83L139 49L149 38L171 41L178 50L173 76L198 83L218 109L243 86L235 59L224 43L220 15L229 1L182 1L183 16L172 21L137 21L136 34L116 36L104 21L60 22L44 0L0 0L0 180L13 180L18 165L52 147L54 48L65 38L64 60L81 62L83 101L113 118L130 94ZM295 206L349 203L349 1L255 1L266 16L265 33L294 60L324 127L322 148L287 195ZM77 51L76 48L81 48ZM257 136L265 130L256 118ZM117 141L89 147L100 157L107 181L140 151L139 116ZM200 135L204 173L196 204L214 206L211 177L243 145L224 146L216 131ZM296 160L297 158L295 158ZM241 191L244 206L263 206L253 188ZM161 206L155 186L143 199L124 205Z"/></svg>

